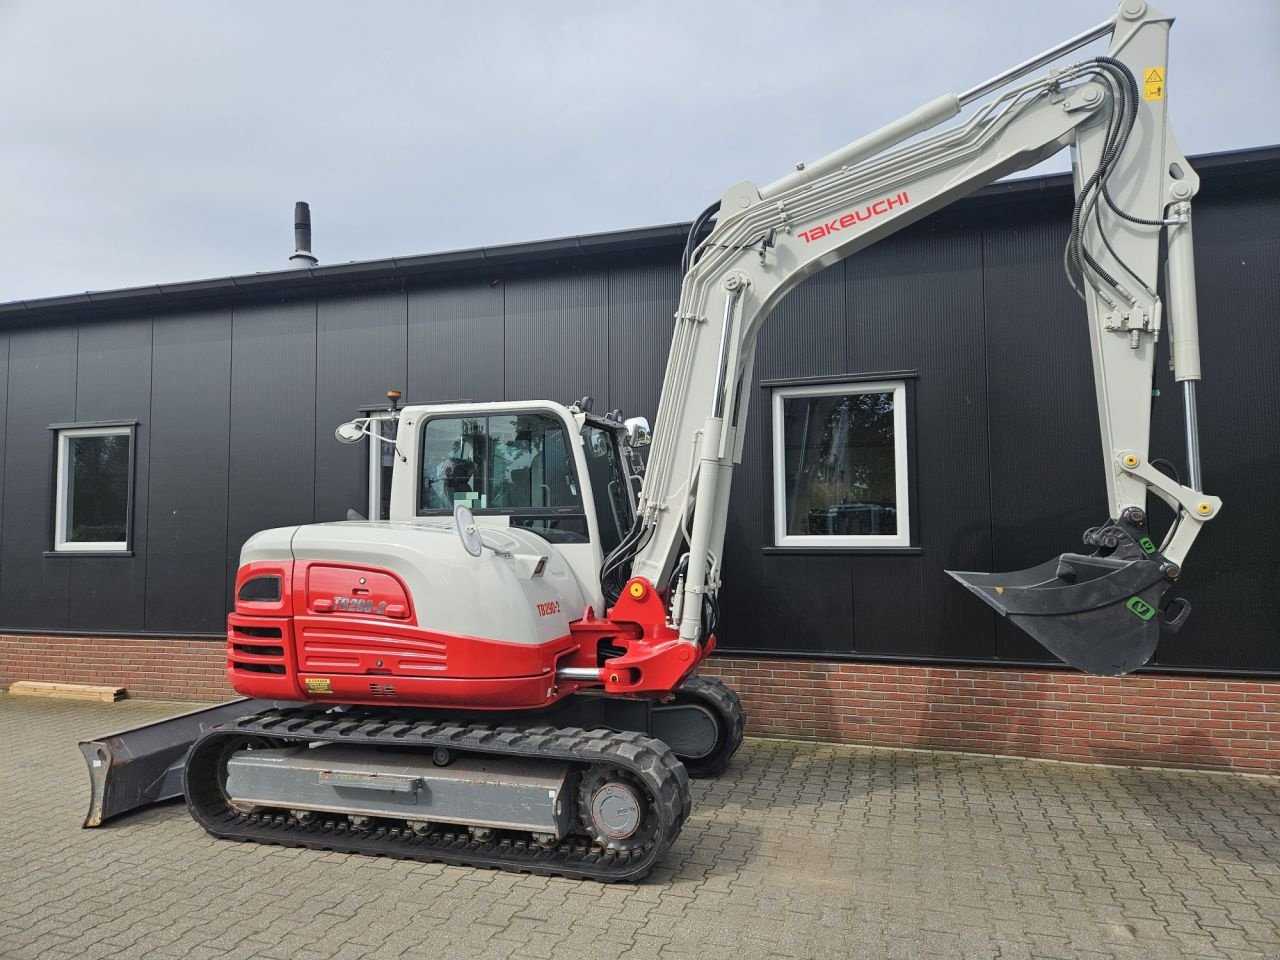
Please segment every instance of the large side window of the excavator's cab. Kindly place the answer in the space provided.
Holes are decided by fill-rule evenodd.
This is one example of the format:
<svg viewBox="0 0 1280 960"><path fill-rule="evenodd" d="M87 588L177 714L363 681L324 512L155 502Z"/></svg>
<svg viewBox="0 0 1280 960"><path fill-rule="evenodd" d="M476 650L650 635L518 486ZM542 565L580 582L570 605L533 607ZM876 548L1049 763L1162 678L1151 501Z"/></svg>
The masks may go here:
<svg viewBox="0 0 1280 960"><path fill-rule="evenodd" d="M417 513L507 513L554 543L588 540L564 424L550 413L435 417L422 428Z"/></svg>

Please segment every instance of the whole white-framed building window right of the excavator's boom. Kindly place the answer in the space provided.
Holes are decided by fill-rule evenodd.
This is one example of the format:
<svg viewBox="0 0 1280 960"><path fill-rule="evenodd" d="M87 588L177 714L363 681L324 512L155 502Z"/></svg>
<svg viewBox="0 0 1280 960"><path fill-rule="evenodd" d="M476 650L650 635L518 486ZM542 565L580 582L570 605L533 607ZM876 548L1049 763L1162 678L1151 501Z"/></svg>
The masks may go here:
<svg viewBox="0 0 1280 960"><path fill-rule="evenodd" d="M777 544L910 545L906 449L901 380L774 390Z"/></svg>

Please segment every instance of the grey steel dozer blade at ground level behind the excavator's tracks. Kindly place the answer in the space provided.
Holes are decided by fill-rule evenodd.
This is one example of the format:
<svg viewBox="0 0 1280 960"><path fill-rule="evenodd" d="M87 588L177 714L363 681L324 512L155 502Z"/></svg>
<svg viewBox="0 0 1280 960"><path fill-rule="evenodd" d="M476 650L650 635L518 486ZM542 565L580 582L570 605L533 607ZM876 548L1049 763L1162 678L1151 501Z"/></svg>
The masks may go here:
<svg viewBox="0 0 1280 960"><path fill-rule="evenodd" d="M81 741L90 780L84 826L101 827L111 817L182 796L187 750L201 733L275 705L275 700L232 700Z"/></svg>

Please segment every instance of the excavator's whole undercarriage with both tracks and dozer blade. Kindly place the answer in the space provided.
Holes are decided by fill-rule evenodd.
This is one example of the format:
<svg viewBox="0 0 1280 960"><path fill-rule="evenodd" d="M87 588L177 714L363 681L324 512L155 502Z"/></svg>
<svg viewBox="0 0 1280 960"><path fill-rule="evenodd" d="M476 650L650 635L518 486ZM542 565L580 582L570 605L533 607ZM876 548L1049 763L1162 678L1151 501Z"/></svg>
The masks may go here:
<svg viewBox="0 0 1280 960"><path fill-rule="evenodd" d="M184 795L230 840L635 881L680 833L689 778L721 773L745 723L737 695L699 676L667 701L577 694L525 713L256 705L206 712L211 728L175 718L184 760L163 724L83 744L86 826ZM120 788L140 781L166 792Z"/></svg>

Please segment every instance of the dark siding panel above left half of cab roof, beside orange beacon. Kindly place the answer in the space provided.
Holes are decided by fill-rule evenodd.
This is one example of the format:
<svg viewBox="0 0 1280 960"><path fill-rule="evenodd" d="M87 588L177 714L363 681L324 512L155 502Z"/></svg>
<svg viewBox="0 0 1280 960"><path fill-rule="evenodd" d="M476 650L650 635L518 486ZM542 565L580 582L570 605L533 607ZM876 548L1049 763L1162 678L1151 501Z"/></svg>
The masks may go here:
<svg viewBox="0 0 1280 960"><path fill-rule="evenodd" d="M408 293L408 372L404 398L503 399L500 283Z"/></svg>

